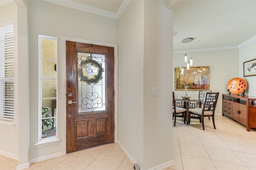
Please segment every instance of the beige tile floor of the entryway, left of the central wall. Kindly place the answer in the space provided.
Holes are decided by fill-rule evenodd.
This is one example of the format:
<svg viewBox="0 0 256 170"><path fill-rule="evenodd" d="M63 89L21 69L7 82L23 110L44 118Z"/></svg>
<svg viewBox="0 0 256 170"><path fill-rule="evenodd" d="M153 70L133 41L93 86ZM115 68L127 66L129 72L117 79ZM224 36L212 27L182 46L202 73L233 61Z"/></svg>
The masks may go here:
<svg viewBox="0 0 256 170"><path fill-rule="evenodd" d="M0 170L16 170L17 160L0 157ZM133 164L118 143L72 152L32 163L26 170L133 170Z"/></svg>

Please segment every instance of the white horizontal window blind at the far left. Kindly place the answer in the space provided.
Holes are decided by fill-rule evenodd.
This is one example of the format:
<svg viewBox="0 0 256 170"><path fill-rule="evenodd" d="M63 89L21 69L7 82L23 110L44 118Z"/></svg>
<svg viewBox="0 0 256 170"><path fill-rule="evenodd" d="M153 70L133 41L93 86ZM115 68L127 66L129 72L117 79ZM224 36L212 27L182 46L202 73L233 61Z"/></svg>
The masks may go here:
<svg viewBox="0 0 256 170"><path fill-rule="evenodd" d="M0 27L0 119L14 121L13 24Z"/></svg>

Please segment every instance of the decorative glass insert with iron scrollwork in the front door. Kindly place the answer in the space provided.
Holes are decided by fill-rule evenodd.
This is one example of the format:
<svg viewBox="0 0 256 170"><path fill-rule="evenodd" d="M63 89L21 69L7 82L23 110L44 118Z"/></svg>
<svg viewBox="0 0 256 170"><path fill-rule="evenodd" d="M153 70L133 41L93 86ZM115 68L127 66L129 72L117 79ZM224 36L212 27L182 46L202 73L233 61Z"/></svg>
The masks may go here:
<svg viewBox="0 0 256 170"><path fill-rule="evenodd" d="M78 114L106 110L105 54L78 52Z"/></svg>

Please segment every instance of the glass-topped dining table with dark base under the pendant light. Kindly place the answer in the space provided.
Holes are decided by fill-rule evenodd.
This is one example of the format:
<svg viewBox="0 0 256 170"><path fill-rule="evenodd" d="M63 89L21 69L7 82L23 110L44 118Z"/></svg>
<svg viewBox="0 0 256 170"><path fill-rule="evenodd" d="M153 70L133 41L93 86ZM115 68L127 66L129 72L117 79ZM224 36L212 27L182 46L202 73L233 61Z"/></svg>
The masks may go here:
<svg viewBox="0 0 256 170"><path fill-rule="evenodd" d="M190 118L191 118L191 115L189 114L188 109L202 107L202 101L199 99L190 99L190 98L183 99L182 98L182 99L175 99L175 101L178 103L179 105L178 107L184 107L186 109L185 118L186 118L187 125L190 124Z"/></svg>

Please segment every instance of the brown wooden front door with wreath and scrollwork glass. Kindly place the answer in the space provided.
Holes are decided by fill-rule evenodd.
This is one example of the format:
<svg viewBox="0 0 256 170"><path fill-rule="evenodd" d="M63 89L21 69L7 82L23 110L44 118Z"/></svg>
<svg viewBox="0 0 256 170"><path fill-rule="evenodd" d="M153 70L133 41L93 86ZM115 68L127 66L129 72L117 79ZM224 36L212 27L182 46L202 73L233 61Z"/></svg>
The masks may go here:
<svg viewBox="0 0 256 170"><path fill-rule="evenodd" d="M66 41L66 150L114 142L114 47Z"/></svg>

